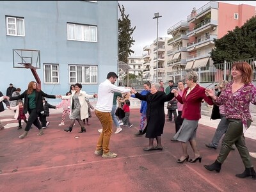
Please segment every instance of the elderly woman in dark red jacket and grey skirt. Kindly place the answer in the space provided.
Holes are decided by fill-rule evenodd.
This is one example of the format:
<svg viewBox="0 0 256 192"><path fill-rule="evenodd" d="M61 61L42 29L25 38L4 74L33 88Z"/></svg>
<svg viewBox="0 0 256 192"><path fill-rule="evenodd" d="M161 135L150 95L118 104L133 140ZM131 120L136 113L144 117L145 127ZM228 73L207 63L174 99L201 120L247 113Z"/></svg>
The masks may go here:
<svg viewBox="0 0 256 192"><path fill-rule="evenodd" d="M201 118L201 102L204 99L205 102L212 105L211 97L205 95L205 88L196 83L197 73L194 71L188 72L185 76L185 82L188 85L180 96L177 90L172 90L175 98L183 104L182 118L184 121L179 131L173 136L173 140L180 141L182 147L182 156L177 160L177 163L184 163L189 161L195 163L199 161L201 163L202 157L196 145L196 130L198 127L198 120ZM193 149L194 157L189 159L188 155L188 141Z"/></svg>

